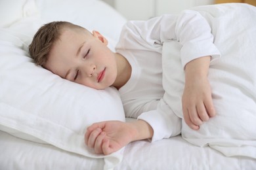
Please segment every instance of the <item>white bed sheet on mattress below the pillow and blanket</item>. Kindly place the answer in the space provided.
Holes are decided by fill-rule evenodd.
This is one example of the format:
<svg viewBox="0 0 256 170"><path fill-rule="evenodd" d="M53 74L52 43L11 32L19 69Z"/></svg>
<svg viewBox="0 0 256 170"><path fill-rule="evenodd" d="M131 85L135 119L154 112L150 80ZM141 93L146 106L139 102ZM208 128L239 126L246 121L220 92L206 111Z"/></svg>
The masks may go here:
<svg viewBox="0 0 256 170"><path fill-rule="evenodd" d="M12 149L10 149L12 148ZM103 159L87 158L49 144L19 139L0 131L0 169L103 169ZM181 136L155 143L137 141L125 147L123 160L115 170L124 169L255 169L256 161L226 157L216 150L187 143Z"/></svg>

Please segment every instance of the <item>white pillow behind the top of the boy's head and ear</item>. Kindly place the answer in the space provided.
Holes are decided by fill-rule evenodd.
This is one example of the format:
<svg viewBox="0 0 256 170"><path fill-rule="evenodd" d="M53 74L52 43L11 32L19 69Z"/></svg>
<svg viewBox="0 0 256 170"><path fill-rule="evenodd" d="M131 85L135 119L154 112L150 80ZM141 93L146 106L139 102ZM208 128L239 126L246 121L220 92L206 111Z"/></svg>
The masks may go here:
<svg viewBox="0 0 256 170"><path fill-rule="evenodd" d="M46 22L65 20L92 31L96 29L117 41L126 19L99 0L35 0L40 16Z"/></svg>

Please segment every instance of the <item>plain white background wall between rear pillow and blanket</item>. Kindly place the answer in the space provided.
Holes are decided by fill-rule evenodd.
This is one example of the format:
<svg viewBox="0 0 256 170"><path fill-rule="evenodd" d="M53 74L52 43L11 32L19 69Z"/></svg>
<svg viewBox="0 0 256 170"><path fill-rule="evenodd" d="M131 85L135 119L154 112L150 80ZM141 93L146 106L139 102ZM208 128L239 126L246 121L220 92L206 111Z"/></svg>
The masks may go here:
<svg viewBox="0 0 256 170"><path fill-rule="evenodd" d="M215 0L103 0L128 20L148 20L161 14L177 14L199 5L211 5Z"/></svg>

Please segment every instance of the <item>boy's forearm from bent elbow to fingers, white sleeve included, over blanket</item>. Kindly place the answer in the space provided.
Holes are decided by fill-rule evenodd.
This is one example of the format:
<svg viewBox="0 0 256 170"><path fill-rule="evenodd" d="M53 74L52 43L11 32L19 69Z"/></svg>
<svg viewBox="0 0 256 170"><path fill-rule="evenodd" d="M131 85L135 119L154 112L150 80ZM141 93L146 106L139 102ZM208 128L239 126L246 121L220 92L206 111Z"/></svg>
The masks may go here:
<svg viewBox="0 0 256 170"><path fill-rule="evenodd" d="M220 52L213 43L210 25L199 12L185 10L177 19L175 32L182 44L181 62L185 70L184 121L192 129L199 129L215 116L207 74L211 59L219 58Z"/></svg>

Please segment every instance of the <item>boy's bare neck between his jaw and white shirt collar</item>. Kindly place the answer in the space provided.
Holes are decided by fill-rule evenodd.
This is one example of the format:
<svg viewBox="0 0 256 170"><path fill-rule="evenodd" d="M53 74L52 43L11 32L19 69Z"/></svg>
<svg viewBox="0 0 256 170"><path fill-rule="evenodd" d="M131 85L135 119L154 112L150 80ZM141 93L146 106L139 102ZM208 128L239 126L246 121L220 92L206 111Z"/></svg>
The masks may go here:
<svg viewBox="0 0 256 170"><path fill-rule="evenodd" d="M113 86L117 89L127 83L131 77L131 65L121 54L116 53L117 77Z"/></svg>

